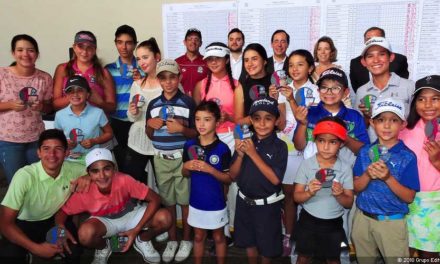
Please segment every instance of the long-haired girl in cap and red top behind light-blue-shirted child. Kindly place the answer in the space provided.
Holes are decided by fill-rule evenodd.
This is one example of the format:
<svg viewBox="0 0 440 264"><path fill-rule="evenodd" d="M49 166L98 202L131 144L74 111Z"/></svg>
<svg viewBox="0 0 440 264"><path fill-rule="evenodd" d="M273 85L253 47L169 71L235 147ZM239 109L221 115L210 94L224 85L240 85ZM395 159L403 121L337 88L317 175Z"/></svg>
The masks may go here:
<svg viewBox="0 0 440 264"><path fill-rule="evenodd" d="M104 69L96 55L96 37L90 31L76 33L73 43L73 59L57 66L54 75L55 110L69 104L69 99L63 92L65 83L73 75L81 75L87 79L91 88L89 102L111 113L116 108L115 86L110 73Z"/></svg>

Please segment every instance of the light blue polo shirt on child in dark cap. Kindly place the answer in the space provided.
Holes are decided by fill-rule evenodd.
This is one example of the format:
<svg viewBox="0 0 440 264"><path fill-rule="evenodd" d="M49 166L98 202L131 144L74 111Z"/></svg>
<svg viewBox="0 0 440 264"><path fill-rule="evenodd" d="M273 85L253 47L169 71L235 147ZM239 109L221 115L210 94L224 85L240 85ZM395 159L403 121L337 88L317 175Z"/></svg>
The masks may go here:
<svg viewBox="0 0 440 264"><path fill-rule="evenodd" d="M101 128L107 125L108 119L101 108L95 107L86 103L86 107L78 116L72 112L70 105L61 109L55 114L54 126L57 129L61 129L64 135L69 138L70 131L77 129L78 136L82 136L81 139L96 138L101 135ZM94 148L98 148L99 144L94 145L92 148L86 149L80 144L77 144L71 152L74 153L88 153Z"/></svg>

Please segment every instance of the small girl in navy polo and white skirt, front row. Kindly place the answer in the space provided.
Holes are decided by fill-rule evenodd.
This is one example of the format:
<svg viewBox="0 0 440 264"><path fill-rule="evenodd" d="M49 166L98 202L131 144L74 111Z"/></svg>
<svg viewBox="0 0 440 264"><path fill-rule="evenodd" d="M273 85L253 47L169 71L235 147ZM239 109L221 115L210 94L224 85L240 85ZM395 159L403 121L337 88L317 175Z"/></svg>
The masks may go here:
<svg viewBox="0 0 440 264"><path fill-rule="evenodd" d="M215 133L221 116L215 102L202 101L195 110L195 116L200 136L185 143L182 169L183 176L191 176L188 224L194 227L195 233L194 263L202 263L206 230L212 230L217 263L225 263L226 239L223 226L228 223L228 213L223 184L231 181L227 174L231 151ZM191 158L190 152L195 148L199 148L201 153Z"/></svg>

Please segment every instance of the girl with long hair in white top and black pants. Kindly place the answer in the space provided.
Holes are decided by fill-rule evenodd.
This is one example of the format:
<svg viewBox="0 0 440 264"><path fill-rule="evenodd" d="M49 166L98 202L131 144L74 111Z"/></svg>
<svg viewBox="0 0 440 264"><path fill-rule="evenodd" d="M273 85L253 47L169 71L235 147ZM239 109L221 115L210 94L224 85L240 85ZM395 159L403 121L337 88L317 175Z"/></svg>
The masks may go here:
<svg viewBox="0 0 440 264"><path fill-rule="evenodd" d="M136 48L136 59L145 77L134 81L130 89L130 105L127 116L133 125L128 134L128 151L124 161L127 174L145 184L145 167L151 161L153 165L154 148L145 134L145 116L149 102L162 93L162 87L156 77L156 64L160 61L160 49L156 39L141 42Z"/></svg>

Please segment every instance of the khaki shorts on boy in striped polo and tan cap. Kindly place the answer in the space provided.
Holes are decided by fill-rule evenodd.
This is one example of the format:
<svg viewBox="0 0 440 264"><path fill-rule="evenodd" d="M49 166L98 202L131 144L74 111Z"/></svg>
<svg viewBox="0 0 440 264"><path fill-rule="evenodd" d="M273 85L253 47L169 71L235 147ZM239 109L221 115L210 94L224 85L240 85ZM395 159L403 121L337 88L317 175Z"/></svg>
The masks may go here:
<svg viewBox="0 0 440 264"><path fill-rule="evenodd" d="M182 158L154 156L157 188L165 206L189 204L189 178L182 175Z"/></svg>

